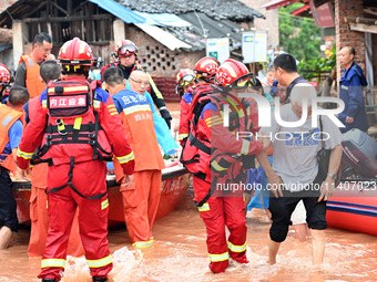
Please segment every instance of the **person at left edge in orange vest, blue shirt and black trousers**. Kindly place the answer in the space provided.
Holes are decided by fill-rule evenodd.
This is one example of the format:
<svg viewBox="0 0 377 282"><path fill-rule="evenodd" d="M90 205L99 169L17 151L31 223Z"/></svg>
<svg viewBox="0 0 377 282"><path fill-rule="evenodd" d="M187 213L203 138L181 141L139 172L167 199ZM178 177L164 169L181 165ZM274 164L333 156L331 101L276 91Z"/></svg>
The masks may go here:
<svg viewBox="0 0 377 282"><path fill-rule="evenodd" d="M10 91L8 105L0 104L0 250L9 247L13 232L18 231L17 205L12 194L17 148L22 136L22 106L29 100L28 90L14 86Z"/></svg>

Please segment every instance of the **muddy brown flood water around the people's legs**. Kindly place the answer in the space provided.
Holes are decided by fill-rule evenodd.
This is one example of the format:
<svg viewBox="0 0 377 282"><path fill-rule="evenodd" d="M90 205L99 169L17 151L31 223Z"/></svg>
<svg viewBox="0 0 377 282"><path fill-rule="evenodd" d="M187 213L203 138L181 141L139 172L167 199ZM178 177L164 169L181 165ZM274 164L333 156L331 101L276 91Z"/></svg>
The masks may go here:
<svg viewBox="0 0 377 282"><path fill-rule="evenodd" d="M110 230L109 242L114 269L110 281L377 281L377 238L343 230L326 231L323 272L312 271L310 239L299 242L289 231L282 244L277 264L265 263L269 223L263 210L247 213L248 265L231 262L225 273L213 274L207 268L205 227L191 203L191 192L179 210L157 220L153 228L155 243L135 250L125 228ZM22 228L17 243L0 252L0 281L40 281L40 259L28 259L29 229ZM68 258L62 281L90 282L84 258Z"/></svg>

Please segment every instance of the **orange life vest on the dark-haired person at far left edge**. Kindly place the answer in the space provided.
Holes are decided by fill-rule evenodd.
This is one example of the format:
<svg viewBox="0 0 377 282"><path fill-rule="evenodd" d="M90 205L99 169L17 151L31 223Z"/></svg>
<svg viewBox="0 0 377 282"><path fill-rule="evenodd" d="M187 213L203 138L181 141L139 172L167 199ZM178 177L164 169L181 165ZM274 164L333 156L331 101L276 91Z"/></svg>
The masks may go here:
<svg viewBox="0 0 377 282"><path fill-rule="evenodd" d="M8 132L9 128L22 116L21 112L17 112L7 105L0 105L0 152L3 152L9 143ZM16 171L17 165L14 163L12 153L1 154L7 156L4 160L0 160L0 165L7 168L9 171Z"/></svg>

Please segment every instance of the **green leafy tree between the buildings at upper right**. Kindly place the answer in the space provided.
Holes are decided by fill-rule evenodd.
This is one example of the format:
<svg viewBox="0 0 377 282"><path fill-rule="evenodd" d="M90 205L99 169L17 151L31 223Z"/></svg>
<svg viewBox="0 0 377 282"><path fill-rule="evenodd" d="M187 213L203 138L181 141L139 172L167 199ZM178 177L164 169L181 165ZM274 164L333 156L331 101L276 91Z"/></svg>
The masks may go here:
<svg viewBox="0 0 377 282"><path fill-rule="evenodd" d="M320 28L313 19L292 15L303 7L293 3L278 10L279 44L285 52L293 54L298 61L320 58Z"/></svg>

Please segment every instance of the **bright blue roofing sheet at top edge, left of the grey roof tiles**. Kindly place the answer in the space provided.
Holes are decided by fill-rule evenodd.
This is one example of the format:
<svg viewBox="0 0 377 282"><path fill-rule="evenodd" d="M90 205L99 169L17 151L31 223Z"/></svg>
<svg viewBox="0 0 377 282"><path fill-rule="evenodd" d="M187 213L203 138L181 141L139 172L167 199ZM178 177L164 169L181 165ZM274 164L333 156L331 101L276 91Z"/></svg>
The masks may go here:
<svg viewBox="0 0 377 282"><path fill-rule="evenodd" d="M121 20L123 20L126 23L143 23L145 22L145 19L129 8L125 8L124 6L116 3L112 0L88 0L94 4L98 4L103 10L106 10L108 12L116 15Z"/></svg>

